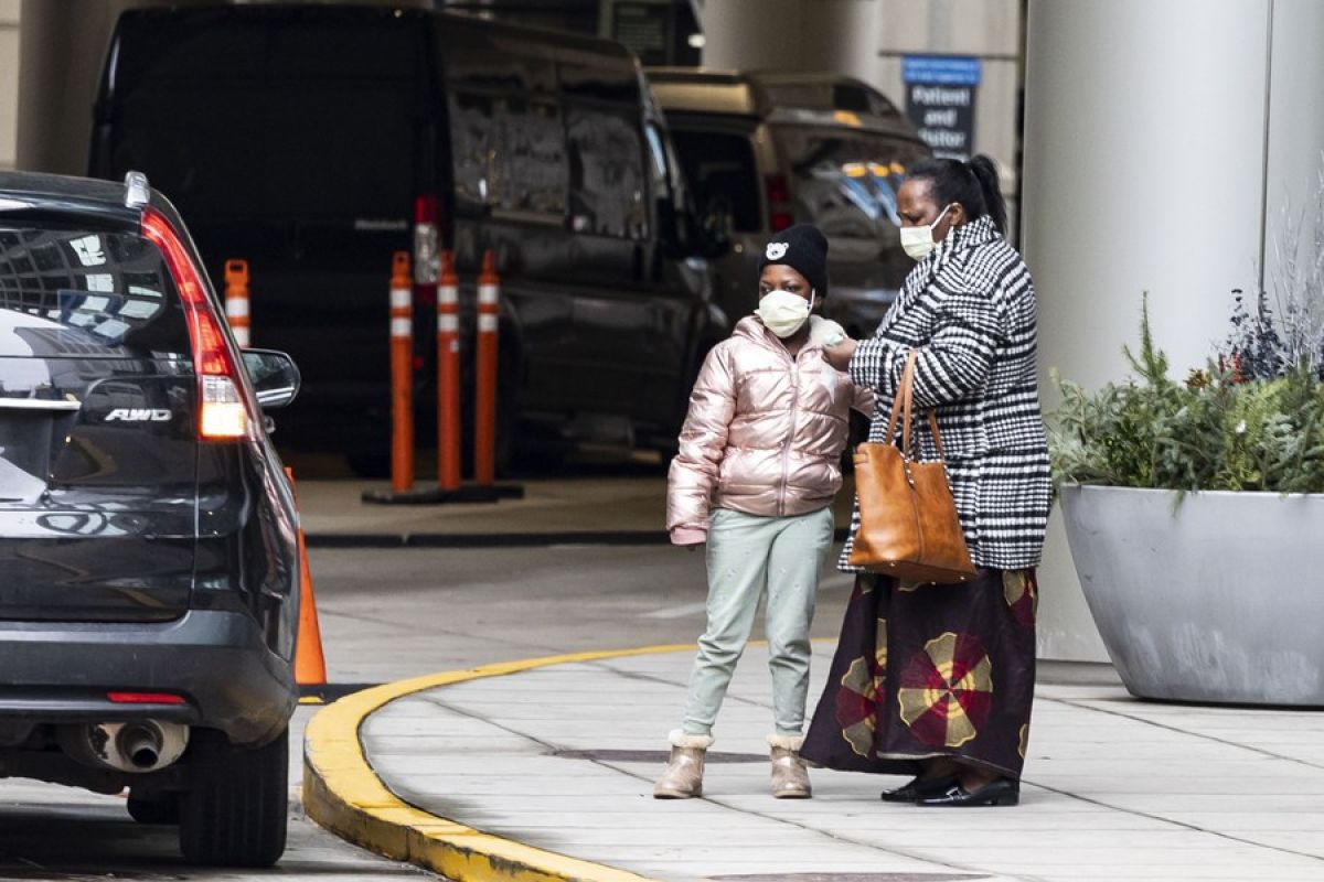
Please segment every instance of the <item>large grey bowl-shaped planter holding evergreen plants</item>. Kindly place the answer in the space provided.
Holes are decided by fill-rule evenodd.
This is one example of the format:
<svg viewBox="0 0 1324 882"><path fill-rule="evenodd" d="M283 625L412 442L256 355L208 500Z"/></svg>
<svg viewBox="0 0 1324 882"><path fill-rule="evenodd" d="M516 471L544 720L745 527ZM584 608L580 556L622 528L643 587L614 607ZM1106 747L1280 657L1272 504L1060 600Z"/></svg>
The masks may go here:
<svg viewBox="0 0 1324 882"><path fill-rule="evenodd" d="M1133 696L1324 706L1324 495L1063 487L1071 557Z"/></svg>

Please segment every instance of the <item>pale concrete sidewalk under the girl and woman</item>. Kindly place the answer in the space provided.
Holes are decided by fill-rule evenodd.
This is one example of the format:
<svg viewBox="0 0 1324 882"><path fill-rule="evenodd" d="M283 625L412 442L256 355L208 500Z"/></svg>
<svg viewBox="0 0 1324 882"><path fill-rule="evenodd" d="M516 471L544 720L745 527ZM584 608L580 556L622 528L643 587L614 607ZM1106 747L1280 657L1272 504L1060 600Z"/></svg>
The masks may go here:
<svg viewBox="0 0 1324 882"><path fill-rule="evenodd" d="M814 697L830 651L816 645ZM812 772L813 800L779 801L768 793L764 746L767 655L751 648L719 719L704 799L658 801L651 784L691 657L671 648L457 673L442 678L451 685L367 714L356 739L355 714L342 713L350 731L310 734L308 755L330 755L327 741L361 751L395 796L357 801L388 832L412 825L469 858L507 841L511 848L485 858L487 875L471 878L1324 878L1319 713L1145 703L1107 666L1050 664L1021 807L888 805L878 792L899 779L825 770ZM339 760L322 764L314 778L330 791L354 778ZM310 813L326 801L312 799ZM363 817L331 825L381 848L383 833L365 833ZM395 853L421 860L421 850ZM454 877L469 873L467 863L445 866L457 867L448 870Z"/></svg>

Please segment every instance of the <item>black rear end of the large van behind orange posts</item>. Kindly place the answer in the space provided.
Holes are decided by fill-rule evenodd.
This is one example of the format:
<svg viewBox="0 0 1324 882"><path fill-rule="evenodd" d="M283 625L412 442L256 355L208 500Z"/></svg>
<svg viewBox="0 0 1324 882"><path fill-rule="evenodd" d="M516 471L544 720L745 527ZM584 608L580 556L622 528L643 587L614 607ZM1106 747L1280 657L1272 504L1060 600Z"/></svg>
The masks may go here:
<svg viewBox="0 0 1324 882"><path fill-rule="evenodd" d="M426 33L425 16L388 7L120 19L93 175L144 172L212 278L248 261L253 345L287 352L303 374L282 443L389 450L392 251L412 247L416 198L437 192Z"/></svg>

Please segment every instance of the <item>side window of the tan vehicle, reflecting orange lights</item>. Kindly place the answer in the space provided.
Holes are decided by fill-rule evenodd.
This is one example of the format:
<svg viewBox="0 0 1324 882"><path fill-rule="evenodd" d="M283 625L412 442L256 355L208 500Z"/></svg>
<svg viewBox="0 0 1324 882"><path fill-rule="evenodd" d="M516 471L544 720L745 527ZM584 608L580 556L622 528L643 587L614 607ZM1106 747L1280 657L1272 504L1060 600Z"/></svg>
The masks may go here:
<svg viewBox="0 0 1324 882"><path fill-rule="evenodd" d="M790 169L796 221L858 239L900 226L896 190L906 171L928 156L923 144L837 128L777 126L773 134Z"/></svg>

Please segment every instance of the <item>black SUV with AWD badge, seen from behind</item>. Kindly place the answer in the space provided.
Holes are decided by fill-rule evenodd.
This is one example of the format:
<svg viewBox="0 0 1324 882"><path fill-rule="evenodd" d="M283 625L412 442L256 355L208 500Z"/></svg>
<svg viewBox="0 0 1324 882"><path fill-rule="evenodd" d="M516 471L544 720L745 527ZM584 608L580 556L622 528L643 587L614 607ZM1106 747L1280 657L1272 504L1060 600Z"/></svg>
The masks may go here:
<svg viewBox="0 0 1324 882"><path fill-rule="evenodd" d="M301 571L262 410L298 385L146 177L0 173L0 776L279 858Z"/></svg>

